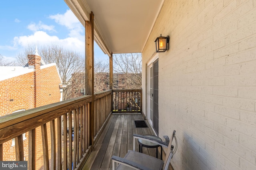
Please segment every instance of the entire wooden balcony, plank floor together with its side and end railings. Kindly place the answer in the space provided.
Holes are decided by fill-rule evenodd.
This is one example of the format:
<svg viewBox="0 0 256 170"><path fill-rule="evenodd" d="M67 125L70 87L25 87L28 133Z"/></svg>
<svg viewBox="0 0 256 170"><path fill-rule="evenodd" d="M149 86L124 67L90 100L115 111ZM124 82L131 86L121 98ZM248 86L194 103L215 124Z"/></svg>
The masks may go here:
<svg viewBox="0 0 256 170"><path fill-rule="evenodd" d="M23 161L26 158L29 170L111 169L112 155L124 156L127 150L133 149L133 134L154 134L149 124L148 128L135 127L134 120L144 120L141 113L134 113L141 112L142 96L133 93L138 90L127 91L119 90L113 95L114 90L106 90L94 94L94 98L80 96L2 116L0 161ZM118 99L114 111L121 113L112 113L113 96ZM124 96L130 98L124 99ZM133 106L129 110L133 113L120 106L119 100ZM68 135L68 129L73 128L73 135ZM36 131L41 135L36 135ZM13 138L15 148L11 148ZM10 149L13 151L9 159ZM39 151L41 155L36 154ZM143 153L155 156L156 149L143 149Z"/></svg>

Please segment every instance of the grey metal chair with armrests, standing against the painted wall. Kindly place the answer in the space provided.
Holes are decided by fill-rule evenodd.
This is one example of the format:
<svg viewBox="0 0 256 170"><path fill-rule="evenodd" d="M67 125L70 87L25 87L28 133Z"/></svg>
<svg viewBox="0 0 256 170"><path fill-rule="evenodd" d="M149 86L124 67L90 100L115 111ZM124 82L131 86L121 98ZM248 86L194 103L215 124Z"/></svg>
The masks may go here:
<svg viewBox="0 0 256 170"><path fill-rule="evenodd" d="M175 154L178 147L178 142L175 133L176 131L174 130L169 143L165 143L150 137L145 137L143 135L133 135L133 150L128 150L124 158L112 156L111 159L113 163L113 170L167 170L170 160L172 159L172 156ZM147 154L136 152L135 139L150 141L152 143L161 145L162 147L168 148L166 152L165 161L155 158L153 156L149 156ZM175 139L175 149L174 146L172 145L173 139ZM118 166L116 166L117 163Z"/></svg>

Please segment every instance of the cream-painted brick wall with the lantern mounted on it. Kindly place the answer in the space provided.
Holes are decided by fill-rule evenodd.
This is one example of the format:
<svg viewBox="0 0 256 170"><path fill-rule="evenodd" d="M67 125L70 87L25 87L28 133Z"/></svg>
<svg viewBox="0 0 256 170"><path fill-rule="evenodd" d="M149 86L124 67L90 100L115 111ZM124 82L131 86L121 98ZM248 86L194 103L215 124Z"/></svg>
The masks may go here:
<svg viewBox="0 0 256 170"><path fill-rule="evenodd" d="M144 96L160 34L159 136L176 130L174 169L256 169L256 1L166 0L142 53Z"/></svg>

